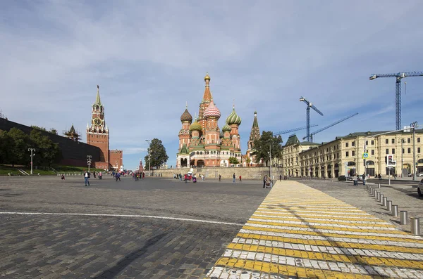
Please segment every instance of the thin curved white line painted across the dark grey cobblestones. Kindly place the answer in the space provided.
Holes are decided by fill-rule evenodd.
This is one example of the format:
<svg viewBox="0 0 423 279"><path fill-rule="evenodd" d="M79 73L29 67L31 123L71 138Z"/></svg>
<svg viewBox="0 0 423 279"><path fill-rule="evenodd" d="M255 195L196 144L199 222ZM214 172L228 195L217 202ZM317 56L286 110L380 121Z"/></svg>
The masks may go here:
<svg viewBox="0 0 423 279"><path fill-rule="evenodd" d="M130 217L130 218L149 218L149 219L165 219L165 220L176 220L176 221L191 221L191 222L198 222L198 223L218 223L220 225L231 225L231 226L244 226L243 223L230 223L230 222L208 221L208 220L200 220L200 219L176 218L176 217L166 217L166 216L152 216L152 215L54 213L54 212L0 212L0 214Z"/></svg>

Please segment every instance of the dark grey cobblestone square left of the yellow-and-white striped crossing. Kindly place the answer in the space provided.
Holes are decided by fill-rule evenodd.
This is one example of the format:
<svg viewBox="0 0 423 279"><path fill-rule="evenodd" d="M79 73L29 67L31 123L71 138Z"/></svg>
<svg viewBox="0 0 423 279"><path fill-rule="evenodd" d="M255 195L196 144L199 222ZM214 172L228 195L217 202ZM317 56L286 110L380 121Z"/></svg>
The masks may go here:
<svg viewBox="0 0 423 279"><path fill-rule="evenodd" d="M0 278L204 278L267 193L255 181L2 177Z"/></svg>

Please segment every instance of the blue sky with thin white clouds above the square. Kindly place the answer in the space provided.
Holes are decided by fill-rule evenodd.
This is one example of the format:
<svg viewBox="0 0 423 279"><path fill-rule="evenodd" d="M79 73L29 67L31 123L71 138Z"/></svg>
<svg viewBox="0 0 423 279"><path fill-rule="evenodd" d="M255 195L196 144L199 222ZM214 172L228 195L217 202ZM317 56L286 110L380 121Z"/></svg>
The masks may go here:
<svg viewBox="0 0 423 279"><path fill-rule="evenodd" d="M13 122L69 129L86 140L100 86L110 148L125 169L159 138L176 164L180 115L195 116L209 72L223 126L232 105L247 150L261 131L305 126L314 142L393 130L395 79L423 71L423 1L1 1L0 109ZM423 124L423 77L403 85L402 123ZM305 130L296 132L298 138ZM290 134L283 134L286 142Z"/></svg>

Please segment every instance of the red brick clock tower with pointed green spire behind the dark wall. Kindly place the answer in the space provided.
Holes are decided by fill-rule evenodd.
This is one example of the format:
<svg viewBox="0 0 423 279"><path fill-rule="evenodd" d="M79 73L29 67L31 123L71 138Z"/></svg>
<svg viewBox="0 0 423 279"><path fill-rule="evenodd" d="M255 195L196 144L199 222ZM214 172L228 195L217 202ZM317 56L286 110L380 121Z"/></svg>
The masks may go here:
<svg viewBox="0 0 423 279"><path fill-rule="evenodd" d="M109 128L104 119L104 106L100 100L99 86L92 104L91 124L87 124L87 144L100 148L100 161L109 164Z"/></svg>

